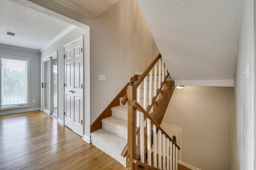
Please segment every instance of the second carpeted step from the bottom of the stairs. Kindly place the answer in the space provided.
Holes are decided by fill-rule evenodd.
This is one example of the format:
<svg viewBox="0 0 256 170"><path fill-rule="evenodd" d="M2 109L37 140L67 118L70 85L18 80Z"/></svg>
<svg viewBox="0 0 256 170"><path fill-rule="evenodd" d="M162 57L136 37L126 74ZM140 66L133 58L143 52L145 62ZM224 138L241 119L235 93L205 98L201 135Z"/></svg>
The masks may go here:
<svg viewBox="0 0 256 170"><path fill-rule="evenodd" d="M117 117L102 119L102 128L127 139L127 121Z"/></svg>

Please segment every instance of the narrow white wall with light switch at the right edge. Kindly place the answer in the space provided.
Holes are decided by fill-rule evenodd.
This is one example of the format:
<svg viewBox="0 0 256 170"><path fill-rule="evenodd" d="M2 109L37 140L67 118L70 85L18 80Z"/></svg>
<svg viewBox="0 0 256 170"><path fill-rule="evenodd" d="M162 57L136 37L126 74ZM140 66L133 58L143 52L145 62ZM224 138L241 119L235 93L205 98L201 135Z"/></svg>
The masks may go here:
<svg viewBox="0 0 256 170"><path fill-rule="evenodd" d="M249 63L249 78L244 74ZM230 123L230 169L254 169L254 1L244 0Z"/></svg>

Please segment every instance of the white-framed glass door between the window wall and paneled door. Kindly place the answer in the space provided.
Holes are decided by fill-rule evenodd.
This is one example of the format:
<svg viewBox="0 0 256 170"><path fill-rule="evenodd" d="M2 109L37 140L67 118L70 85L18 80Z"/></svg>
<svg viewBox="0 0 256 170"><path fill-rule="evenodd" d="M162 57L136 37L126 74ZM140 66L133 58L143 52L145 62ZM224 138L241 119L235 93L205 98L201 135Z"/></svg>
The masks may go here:
<svg viewBox="0 0 256 170"><path fill-rule="evenodd" d="M58 117L58 65L57 51L42 59L42 109Z"/></svg>

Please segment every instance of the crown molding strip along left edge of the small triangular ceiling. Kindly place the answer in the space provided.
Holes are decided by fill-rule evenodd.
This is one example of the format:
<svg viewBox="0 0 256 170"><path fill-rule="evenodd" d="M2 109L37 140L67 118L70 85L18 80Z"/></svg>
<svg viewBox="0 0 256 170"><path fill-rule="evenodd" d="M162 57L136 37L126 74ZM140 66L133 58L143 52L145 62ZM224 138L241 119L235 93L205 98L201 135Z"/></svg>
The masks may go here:
<svg viewBox="0 0 256 170"><path fill-rule="evenodd" d="M96 17L95 14L92 14L91 12L85 10L84 8L81 8L78 5L72 4L72 2L69 2L67 0L53 0L53 1L57 2L58 4L61 4L62 6L69 8L70 10L73 10L79 14L82 14L83 16L86 16L92 20Z"/></svg>

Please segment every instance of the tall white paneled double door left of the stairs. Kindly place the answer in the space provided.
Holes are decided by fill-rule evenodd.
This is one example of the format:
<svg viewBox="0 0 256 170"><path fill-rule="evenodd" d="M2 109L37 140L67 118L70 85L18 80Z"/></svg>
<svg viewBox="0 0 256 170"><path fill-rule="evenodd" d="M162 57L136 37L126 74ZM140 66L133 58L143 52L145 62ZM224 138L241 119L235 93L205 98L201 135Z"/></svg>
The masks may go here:
<svg viewBox="0 0 256 170"><path fill-rule="evenodd" d="M65 125L82 136L83 42L65 47Z"/></svg>

